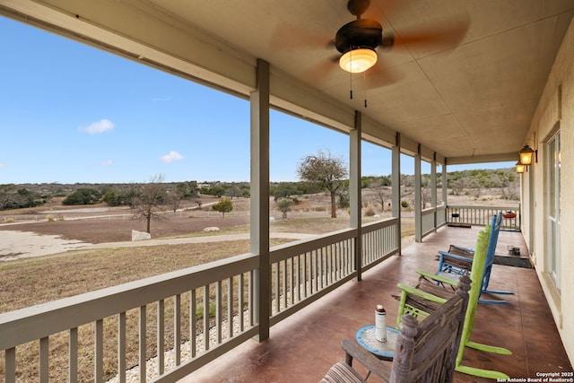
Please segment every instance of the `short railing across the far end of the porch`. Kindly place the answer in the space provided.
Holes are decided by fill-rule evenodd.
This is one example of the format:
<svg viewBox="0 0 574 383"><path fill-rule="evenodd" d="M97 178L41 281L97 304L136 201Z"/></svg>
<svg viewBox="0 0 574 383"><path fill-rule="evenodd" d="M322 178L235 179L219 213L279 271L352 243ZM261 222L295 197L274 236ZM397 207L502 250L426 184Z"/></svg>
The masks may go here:
<svg viewBox="0 0 574 383"><path fill-rule="evenodd" d="M503 217L501 230L520 231L520 206L448 205L447 221L450 225L486 226L499 212Z"/></svg>

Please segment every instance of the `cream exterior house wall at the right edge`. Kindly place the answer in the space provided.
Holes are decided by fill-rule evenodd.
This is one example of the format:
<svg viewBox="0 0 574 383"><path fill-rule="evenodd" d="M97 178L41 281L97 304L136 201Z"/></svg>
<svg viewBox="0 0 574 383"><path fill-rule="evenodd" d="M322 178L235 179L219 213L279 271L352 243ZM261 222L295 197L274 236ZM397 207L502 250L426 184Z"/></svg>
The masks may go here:
<svg viewBox="0 0 574 383"><path fill-rule="evenodd" d="M561 288L556 288L549 273L547 255L547 189L545 143L557 129L561 133ZM522 176L523 231L526 242L531 246L536 272L542 283L544 294L558 326L562 342L574 360L574 20L562 41L552 72L539 101L526 144L538 149L538 162Z"/></svg>

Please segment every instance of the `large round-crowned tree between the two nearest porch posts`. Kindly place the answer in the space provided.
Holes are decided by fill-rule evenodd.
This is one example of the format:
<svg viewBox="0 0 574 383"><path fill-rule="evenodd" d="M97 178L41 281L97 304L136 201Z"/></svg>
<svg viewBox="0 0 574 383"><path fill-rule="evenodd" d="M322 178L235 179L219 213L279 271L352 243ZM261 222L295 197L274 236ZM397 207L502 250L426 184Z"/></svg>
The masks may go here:
<svg viewBox="0 0 574 383"><path fill-rule="evenodd" d="M330 152L318 152L317 155L305 157L297 168L303 180L320 185L331 196L331 218L336 218L336 193L344 186L347 176L346 165L341 158L331 157Z"/></svg>

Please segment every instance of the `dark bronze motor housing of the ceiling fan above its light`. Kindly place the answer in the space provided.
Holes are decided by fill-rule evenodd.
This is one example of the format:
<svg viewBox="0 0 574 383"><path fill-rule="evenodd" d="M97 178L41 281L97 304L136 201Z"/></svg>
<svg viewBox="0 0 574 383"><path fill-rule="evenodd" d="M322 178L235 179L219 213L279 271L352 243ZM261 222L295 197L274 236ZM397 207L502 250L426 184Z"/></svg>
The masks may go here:
<svg viewBox="0 0 574 383"><path fill-rule="evenodd" d="M348 22L335 35L335 48L341 53L358 48L375 50L382 43L383 27L369 19Z"/></svg>

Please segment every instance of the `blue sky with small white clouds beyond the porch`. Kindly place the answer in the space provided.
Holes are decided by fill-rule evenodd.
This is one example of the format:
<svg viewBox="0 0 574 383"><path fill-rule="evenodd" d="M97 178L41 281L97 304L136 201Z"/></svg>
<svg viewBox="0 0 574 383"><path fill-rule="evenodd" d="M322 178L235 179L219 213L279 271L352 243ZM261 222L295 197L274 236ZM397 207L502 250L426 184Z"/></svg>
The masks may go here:
<svg viewBox="0 0 574 383"><path fill-rule="evenodd" d="M2 16L0 41L0 185L249 180L248 100ZM278 111L270 125L272 181L319 151L348 163L347 135ZM391 173L389 150L361 152L363 175Z"/></svg>

